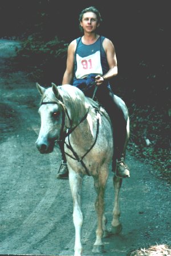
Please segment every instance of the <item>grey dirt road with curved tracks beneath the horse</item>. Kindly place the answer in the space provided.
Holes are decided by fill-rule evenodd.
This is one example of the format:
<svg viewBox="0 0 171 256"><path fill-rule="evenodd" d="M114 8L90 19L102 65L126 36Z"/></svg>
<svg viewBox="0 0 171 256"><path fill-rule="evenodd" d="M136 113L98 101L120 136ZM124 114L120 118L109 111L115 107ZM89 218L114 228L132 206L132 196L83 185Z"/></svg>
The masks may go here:
<svg viewBox="0 0 171 256"><path fill-rule="evenodd" d="M0 254L73 255L74 224L68 180L56 179L58 148L41 155L35 147L40 128L39 93L27 73L14 68L18 42L0 40L1 209ZM38 81L39 82L39 81ZM170 245L170 187L152 167L127 152L131 178L121 188L123 231L104 239L105 256L126 256L151 245ZM96 212L93 180L83 182L83 255L94 255ZM108 228L112 220L112 173L105 192Z"/></svg>

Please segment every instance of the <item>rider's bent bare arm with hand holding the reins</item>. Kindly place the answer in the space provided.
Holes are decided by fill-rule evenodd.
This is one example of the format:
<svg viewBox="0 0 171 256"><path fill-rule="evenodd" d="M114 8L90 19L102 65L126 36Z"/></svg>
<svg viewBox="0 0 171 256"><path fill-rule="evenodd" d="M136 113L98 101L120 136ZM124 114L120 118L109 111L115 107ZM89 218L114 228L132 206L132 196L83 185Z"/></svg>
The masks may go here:
<svg viewBox="0 0 171 256"><path fill-rule="evenodd" d="M96 76L97 85L100 85L103 83L104 80L108 80L117 75L117 59L116 59L115 47L108 38L105 38L105 40L103 41L103 48L107 56L109 71L103 76L99 76L99 75Z"/></svg>

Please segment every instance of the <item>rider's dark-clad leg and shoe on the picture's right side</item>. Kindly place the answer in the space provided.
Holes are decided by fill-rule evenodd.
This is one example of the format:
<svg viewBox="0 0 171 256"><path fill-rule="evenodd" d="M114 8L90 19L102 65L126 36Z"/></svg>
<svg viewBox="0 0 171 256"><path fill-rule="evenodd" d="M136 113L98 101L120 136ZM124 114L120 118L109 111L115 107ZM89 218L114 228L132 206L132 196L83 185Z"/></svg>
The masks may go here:
<svg viewBox="0 0 171 256"><path fill-rule="evenodd" d="M113 172L120 178L129 177L129 168L124 162L125 145L127 143L127 120L128 111L120 102L120 99L113 94L111 89L102 88L97 90L97 100L108 112L113 126Z"/></svg>

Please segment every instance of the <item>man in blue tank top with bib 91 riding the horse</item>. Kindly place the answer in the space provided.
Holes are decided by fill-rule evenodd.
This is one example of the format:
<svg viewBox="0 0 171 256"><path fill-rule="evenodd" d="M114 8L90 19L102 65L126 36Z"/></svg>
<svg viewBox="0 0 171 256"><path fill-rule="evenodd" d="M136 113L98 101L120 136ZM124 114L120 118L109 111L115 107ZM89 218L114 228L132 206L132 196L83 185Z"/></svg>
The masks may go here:
<svg viewBox="0 0 171 256"><path fill-rule="evenodd" d="M124 162L124 144L127 136L127 119L120 108L117 96L109 85L110 78L117 75L117 59L112 42L97 34L101 22L99 11L91 6L84 9L79 16L80 29L83 37L72 41L68 46L67 67L62 84L73 84L88 97L96 97L108 112L113 125L112 171L120 178L129 177L129 168ZM96 86L95 86L96 85ZM58 179L68 178L64 141L60 143L62 164Z"/></svg>

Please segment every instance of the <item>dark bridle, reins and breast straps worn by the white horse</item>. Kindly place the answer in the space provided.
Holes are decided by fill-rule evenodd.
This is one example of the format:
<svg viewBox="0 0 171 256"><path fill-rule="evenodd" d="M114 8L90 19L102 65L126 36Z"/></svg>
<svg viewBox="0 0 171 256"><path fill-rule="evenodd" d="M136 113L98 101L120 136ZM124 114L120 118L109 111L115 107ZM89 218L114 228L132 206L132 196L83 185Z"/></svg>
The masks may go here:
<svg viewBox="0 0 171 256"><path fill-rule="evenodd" d="M56 103L56 101L44 101L44 102L41 103L41 105L45 105L45 104L58 104L58 103ZM96 111L96 114L97 114L97 112L99 112L99 109L95 108L95 111ZM82 157L78 156L78 153L76 153L74 151L74 149L72 148L72 145L70 143L70 134L75 130L76 127L79 126L79 124L81 124L87 118L88 112L89 112L89 108L88 108L88 111L87 111L86 115L83 116L83 118L79 121L79 123L77 125L75 125L75 127L71 128L72 127L72 120L70 119L70 116L68 115L67 109L62 106L62 127L60 129L59 139L55 140L55 141L57 143L59 143L60 141L64 141L64 143L66 144L67 148L70 149L71 152L73 153L74 157L65 152L66 155L70 156L72 159L77 160L78 162L80 162L82 164L82 166L84 167L84 169L86 171L86 174L88 176L91 176L89 174L88 168L86 167L86 165L83 162L83 159L88 154L88 152L91 151L91 149L94 147L94 145L96 144L96 140L97 140L97 137L98 137L98 134L99 134L99 117L97 117L97 129L96 129L95 141L93 142L91 147L88 149L88 151ZM66 115L67 115L67 118L69 120L70 127L66 127L67 128L67 132L64 132ZM68 144L65 141L66 137L68 137Z"/></svg>

